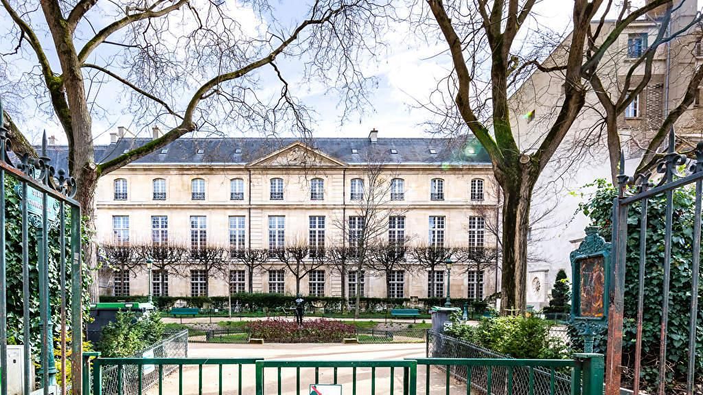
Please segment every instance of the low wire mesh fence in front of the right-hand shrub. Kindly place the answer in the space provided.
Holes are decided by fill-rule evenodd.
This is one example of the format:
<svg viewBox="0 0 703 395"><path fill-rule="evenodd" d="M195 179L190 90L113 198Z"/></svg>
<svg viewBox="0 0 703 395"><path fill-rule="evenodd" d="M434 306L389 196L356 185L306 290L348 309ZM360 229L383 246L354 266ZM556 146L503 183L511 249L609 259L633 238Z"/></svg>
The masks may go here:
<svg viewBox="0 0 703 395"><path fill-rule="evenodd" d="M444 335L442 332L427 331L427 358L510 358L476 344ZM449 374L460 382L466 382L467 367L451 365ZM440 366L439 369L445 368ZM489 369L491 372L489 373ZM488 394L489 374L491 375L491 393ZM534 368L532 373L527 367L515 367L512 373L507 368L494 366L475 366L471 372L472 394L486 395L528 395L572 393L571 376L565 372L555 372L548 368Z"/></svg>

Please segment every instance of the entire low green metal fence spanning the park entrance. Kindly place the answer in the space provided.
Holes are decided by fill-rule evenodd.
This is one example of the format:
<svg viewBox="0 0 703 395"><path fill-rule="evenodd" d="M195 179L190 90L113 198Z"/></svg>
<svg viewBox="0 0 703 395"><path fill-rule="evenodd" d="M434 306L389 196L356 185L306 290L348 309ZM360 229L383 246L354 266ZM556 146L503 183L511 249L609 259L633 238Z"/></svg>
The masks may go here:
<svg viewBox="0 0 703 395"><path fill-rule="evenodd" d="M255 380L256 395L273 394L283 395L301 394L301 384L304 395L309 394L309 384L340 384L344 385L347 391L345 395L356 395L358 384L361 382L363 388L359 388L360 394L385 395L399 394L418 395L418 382L424 381L424 388L420 394L430 395L432 391L432 376L435 379L437 373L444 373L444 382L434 382L434 394L450 395L450 389L456 388L456 369L464 368L465 391L470 394L490 394L490 395L558 395L555 391L555 373L557 370L570 370L572 375L571 395L602 395L603 389L603 357L600 354L576 354L574 359L567 360L538 360L538 359L504 359L504 358L411 358L404 360L378 360L378 361L300 361L300 360L264 360L262 358L96 358L92 361L92 394L93 395L124 395L124 382L122 372L127 366L136 366L138 369L138 394L143 393L143 375L149 372L157 372L157 387L150 389L150 394L174 394L174 389L164 388L164 368L167 365L175 365L178 368L172 375L176 375L178 394L198 394L203 392L203 368L205 366L217 367L217 392L222 394L243 394L243 382L252 384ZM117 385L110 385L110 393L103 391L105 383L103 381L103 368L110 366L117 367ZM193 380L188 381L188 388L183 383L184 367L197 366L198 382L197 390L193 385ZM418 377L418 366L425 370L423 377ZM243 367L247 368L247 373L243 375ZM229 378L223 374L224 369L234 370L237 374ZM477 388L472 384L472 375L478 368L484 368L486 372L486 388ZM86 370L88 368L86 367ZM549 388L536 387L535 374L538 370L550 373ZM498 375L503 371L504 375ZM518 372L527 372L528 385L525 390L517 390L514 382ZM389 375L386 373L389 372ZM434 372L434 373L432 373ZM450 377L454 378L452 382ZM253 373L253 374L252 374ZM314 380L312 379L314 373ZM431 374L432 373L432 374ZM210 372L212 376L212 371ZM294 378L295 377L295 378ZM302 377L307 377L303 379ZM174 385L174 377L170 377L171 384ZM213 379L207 380L206 384L214 384ZM460 380L461 381L461 380ZM295 382L295 389L292 385ZM212 387L212 385L211 385ZM250 385L248 385L250 387ZM437 389L441 391L437 391ZM236 391L235 391L236 389ZM251 390L250 390L251 391ZM207 391L207 394L214 394ZM454 391L456 393L456 389ZM89 391L84 391L84 395L89 395Z"/></svg>

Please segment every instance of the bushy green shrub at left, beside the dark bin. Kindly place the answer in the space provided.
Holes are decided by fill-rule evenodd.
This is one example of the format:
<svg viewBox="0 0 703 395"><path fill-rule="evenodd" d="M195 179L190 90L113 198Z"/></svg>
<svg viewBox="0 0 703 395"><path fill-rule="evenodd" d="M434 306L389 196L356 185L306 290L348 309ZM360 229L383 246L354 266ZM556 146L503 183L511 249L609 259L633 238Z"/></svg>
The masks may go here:
<svg viewBox="0 0 703 395"><path fill-rule="evenodd" d="M160 341L165 325L156 314L137 316L133 311L119 311L115 320L105 325L98 351L108 358L134 356Z"/></svg>

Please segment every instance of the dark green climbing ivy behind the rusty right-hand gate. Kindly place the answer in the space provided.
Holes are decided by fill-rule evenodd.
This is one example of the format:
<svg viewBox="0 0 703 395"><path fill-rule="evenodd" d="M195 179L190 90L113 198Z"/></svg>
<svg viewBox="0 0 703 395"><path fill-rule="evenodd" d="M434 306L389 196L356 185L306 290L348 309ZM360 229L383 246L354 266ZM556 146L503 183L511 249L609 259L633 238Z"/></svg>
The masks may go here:
<svg viewBox="0 0 703 395"><path fill-rule="evenodd" d="M600 227L601 235L612 236L612 202L617 191L605 180L596 181L595 195L581 206L583 213ZM688 333L690 323L692 242L695 190L679 188L673 193L673 228L671 238L671 282L669 296L669 329L666 336L667 373L669 387L680 387L686 382L688 366ZM640 383L645 389L654 389L658 383L659 330L662 319L662 285L664 276L666 197L659 195L649 200L647 207L647 233L644 281L642 373ZM627 251L623 325L623 365L633 368L635 363L636 318L638 311L638 268L640 260L641 205L634 205L627 217ZM699 276L701 277L701 276ZM703 294L699 291L699 297ZM697 312L699 323L696 333L697 377L703 375L703 309ZM605 351L606 334L598 334L597 351ZM599 344L600 343L600 344ZM632 375L632 370L625 370ZM632 377L629 377L630 379Z"/></svg>

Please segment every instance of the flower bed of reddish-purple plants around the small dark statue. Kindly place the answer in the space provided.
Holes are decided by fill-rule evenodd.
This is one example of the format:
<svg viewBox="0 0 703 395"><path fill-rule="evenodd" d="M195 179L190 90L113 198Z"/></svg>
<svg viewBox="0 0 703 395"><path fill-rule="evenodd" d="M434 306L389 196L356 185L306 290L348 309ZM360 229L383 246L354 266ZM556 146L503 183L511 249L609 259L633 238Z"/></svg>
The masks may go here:
<svg viewBox="0 0 703 395"><path fill-rule="evenodd" d="M274 343L338 343L356 337L356 328L336 320L306 320L302 327L294 321L273 318L247 325L252 339Z"/></svg>

